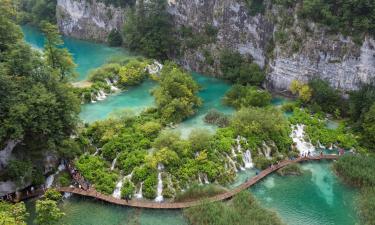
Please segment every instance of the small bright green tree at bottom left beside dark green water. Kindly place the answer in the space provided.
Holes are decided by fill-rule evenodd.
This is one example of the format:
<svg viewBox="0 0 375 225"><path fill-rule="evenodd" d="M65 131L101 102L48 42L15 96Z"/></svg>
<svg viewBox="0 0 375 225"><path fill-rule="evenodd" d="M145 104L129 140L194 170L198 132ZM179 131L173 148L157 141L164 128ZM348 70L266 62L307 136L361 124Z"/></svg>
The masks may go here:
<svg viewBox="0 0 375 225"><path fill-rule="evenodd" d="M40 225L54 225L65 214L57 207L57 203L53 200L38 200L36 202L36 218L35 223Z"/></svg>

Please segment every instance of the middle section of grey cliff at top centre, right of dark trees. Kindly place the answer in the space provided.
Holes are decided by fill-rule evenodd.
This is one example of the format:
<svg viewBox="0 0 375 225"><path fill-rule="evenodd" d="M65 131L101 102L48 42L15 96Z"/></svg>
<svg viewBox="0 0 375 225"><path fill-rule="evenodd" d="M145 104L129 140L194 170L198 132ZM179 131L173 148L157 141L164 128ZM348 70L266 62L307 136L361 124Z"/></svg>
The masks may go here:
<svg viewBox="0 0 375 225"><path fill-rule="evenodd" d="M260 66L266 65L265 49L272 38L273 25L264 16L250 16L242 1L175 0L170 1L169 12L177 27L190 26L199 32L210 24L218 29L216 42L183 53L180 60L187 68L217 74L223 49L238 51L251 56ZM213 66L207 65L204 51L213 56Z"/></svg>

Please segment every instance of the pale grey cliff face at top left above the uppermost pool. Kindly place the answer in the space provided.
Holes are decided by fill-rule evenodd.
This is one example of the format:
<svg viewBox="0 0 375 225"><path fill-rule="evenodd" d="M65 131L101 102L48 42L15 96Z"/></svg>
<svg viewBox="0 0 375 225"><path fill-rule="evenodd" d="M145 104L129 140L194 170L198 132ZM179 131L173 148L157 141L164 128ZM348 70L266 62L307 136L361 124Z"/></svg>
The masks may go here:
<svg viewBox="0 0 375 225"><path fill-rule="evenodd" d="M112 29L121 29L125 11L96 0L57 0L56 17L65 35L106 41Z"/></svg>

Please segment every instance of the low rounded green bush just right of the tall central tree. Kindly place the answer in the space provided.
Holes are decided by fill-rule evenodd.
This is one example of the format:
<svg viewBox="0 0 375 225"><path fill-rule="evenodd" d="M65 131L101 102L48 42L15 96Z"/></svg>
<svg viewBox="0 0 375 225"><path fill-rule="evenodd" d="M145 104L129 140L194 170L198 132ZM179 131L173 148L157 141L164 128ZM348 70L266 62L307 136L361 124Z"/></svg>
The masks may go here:
<svg viewBox="0 0 375 225"><path fill-rule="evenodd" d="M271 104L271 100L272 96L268 91L251 86L233 85L225 93L223 102L226 105L240 109L250 106L265 107Z"/></svg>

